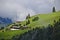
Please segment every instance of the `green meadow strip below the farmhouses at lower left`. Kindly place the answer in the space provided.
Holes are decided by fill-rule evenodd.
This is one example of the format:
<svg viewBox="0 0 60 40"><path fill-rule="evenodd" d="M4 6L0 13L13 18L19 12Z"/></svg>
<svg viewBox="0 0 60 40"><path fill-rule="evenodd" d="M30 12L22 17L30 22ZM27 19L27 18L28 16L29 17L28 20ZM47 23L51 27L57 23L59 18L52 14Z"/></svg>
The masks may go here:
<svg viewBox="0 0 60 40"><path fill-rule="evenodd" d="M13 37L13 36L16 36L16 35L20 35L20 34L23 34L24 32L26 32L27 30L15 30L15 31L11 31L11 30L8 30L6 32L0 32L0 40L1 39L10 39Z"/></svg>

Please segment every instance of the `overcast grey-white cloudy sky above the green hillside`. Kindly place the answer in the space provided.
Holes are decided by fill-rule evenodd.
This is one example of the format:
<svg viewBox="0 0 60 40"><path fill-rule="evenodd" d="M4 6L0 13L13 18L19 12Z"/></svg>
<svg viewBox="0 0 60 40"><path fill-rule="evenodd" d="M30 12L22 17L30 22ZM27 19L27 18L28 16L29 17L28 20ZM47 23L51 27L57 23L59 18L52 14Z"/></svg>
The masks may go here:
<svg viewBox="0 0 60 40"><path fill-rule="evenodd" d="M0 16L20 21L28 13L50 13L53 6L60 10L60 0L0 0Z"/></svg>

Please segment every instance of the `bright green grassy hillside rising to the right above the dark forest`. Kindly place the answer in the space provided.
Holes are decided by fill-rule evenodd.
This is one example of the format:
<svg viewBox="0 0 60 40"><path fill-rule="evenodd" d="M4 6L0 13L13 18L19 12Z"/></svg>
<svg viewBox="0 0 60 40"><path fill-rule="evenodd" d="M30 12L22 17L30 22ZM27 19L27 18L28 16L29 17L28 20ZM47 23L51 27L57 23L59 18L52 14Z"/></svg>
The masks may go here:
<svg viewBox="0 0 60 40"><path fill-rule="evenodd" d="M38 21L32 21L32 19L35 17L35 16L38 16L39 17L39 20ZM55 13L49 13L49 14L38 14L38 15L35 15L35 16L32 16L30 18L30 24L27 25L27 26L30 26L30 27L42 27L42 26L47 26L48 24L52 24L53 25L53 21L54 20L58 20L60 18L60 12L55 12ZM22 24L25 24L25 22L23 22Z"/></svg>

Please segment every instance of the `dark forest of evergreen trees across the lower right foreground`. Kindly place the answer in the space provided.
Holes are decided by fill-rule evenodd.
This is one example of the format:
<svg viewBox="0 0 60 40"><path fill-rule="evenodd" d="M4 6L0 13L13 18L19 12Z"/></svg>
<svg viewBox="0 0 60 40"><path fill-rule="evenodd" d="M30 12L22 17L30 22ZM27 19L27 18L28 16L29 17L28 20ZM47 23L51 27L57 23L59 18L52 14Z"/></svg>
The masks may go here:
<svg viewBox="0 0 60 40"><path fill-rule="evenodd" d="M54 25L49 24L43 29L36 27L22 35L17 35L12 40L60 40L60 19L54 20Z"/></svg>

